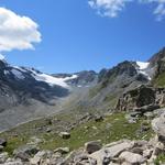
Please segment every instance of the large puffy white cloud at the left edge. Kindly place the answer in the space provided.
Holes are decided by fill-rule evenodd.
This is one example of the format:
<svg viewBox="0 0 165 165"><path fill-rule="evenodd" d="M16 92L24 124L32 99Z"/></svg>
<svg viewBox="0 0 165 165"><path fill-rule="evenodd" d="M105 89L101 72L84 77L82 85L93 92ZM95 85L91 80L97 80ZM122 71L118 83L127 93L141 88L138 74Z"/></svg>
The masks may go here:
<svg viewBox="0 0 165 165"><path fill-rule="evenodd" d="M30 18L0 8L0 52L34 48L33 44L41 42L37 28Z"/></svg>

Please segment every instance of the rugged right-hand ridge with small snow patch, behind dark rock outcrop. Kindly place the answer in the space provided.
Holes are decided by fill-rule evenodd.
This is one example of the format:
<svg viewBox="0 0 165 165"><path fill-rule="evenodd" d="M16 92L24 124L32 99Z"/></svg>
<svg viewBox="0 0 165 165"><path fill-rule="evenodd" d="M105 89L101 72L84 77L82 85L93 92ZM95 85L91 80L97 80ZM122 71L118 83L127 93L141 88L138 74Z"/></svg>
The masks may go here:
<svg viewBox="0 0 165 165"><path fill-rule="evenodd" d="M158 82L157 82L158 81ZM165 48L147 62L122 62L98 74L98 82L78 101L78 109L114 110L119 97L140 85L165 87Z"/></svg>

